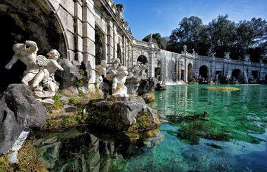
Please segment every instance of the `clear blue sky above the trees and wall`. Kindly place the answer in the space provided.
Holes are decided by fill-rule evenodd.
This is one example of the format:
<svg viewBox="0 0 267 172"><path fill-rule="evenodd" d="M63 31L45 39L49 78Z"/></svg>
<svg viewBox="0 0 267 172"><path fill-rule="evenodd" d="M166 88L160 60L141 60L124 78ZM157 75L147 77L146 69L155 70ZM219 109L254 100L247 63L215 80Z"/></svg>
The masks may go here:
<svg viewBox="0 0 267 172"><path fill-rule="evenodd" d="M267 19L267 0L114 0L125 6L125 19L136 39L159 32L169 36L184 17L200 17L204 24L219 14L232 21Z"/></svg>

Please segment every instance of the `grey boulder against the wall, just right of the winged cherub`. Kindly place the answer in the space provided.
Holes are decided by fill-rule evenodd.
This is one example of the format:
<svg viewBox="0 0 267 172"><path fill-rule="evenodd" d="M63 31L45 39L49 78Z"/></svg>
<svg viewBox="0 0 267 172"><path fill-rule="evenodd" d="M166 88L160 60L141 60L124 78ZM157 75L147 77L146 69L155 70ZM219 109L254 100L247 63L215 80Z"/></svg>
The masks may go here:
<svg viewBox="0 0 267 172"><path fill-rule="evenodd" d="M75 86L76 82L83 78L83 76L79 73L78 67L73 65L69 60L63 58L58 64L64 69L64 71L58 72L56 75L59 77L59 80L61 80L61 87L63 89Z"/></svg>

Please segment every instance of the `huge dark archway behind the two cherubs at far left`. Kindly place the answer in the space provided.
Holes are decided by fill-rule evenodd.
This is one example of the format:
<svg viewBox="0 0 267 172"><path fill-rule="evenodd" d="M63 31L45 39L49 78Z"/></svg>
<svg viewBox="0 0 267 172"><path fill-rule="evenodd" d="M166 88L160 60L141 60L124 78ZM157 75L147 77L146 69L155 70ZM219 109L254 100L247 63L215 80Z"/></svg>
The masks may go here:
<svg viewBox="0 0 267 172"><path fill-rule="evenodd" d="M15 43L35 41L38 54L45 55L52 49L58 50L61 58L67 58L67 48L61 25L52 8L46 1L0 2L1 40L0 40L0 92L11 83L21 83L26 66L17 61L11 69L5 65L11 60ZM4 80L4 82L3 82Z"/></svg>

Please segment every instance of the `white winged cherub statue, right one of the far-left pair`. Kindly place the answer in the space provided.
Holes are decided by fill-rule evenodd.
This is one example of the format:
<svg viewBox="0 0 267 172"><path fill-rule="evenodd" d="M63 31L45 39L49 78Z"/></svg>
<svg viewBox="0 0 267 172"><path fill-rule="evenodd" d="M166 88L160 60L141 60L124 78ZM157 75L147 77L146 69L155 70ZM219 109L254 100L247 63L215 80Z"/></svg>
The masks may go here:
<svg viewBox="0 0 267 172"><path fill-rule="evenodd" d="M43 81L43 87L47 87L47 91L56 92L58 85L56 85L56 80L54 79L54 72L57 69L60 71L64 71L64 69L57 63L57 59L60 56L57 50L51 50L47 56L48 59L45 56L38 56L37 63L43 68L34 77L32 86L38 87L39 83Z"/></svg>

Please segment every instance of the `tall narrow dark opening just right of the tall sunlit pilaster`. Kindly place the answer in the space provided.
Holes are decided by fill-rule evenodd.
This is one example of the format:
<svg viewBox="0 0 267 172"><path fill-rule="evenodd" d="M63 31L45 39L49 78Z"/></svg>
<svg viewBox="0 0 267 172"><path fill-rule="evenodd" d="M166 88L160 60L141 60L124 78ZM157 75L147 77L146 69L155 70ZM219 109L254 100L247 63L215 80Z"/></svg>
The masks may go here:
<svg viewBox="0 0 267 172"><path fill-rule="evenodd" d="M101 61L105 60L105 40L104 34L96 26L95 29L95 39L96 39L96 65L100 65Z"/></svg>

